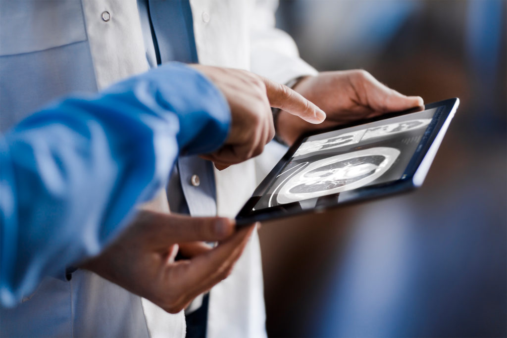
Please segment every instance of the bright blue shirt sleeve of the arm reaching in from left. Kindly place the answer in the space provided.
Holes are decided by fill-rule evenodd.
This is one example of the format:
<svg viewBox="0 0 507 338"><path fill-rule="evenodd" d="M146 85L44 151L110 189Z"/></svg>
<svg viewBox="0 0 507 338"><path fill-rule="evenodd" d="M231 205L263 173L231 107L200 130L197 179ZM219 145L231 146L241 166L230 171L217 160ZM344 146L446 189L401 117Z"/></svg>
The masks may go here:
<svg viewBox="0 0 507 338"><path fill-rule="evenodd" d="M196 70L169 63L95 95L54 102L0 138L0 301L97 254L178 153L212 152L230 110Z"/></svg>

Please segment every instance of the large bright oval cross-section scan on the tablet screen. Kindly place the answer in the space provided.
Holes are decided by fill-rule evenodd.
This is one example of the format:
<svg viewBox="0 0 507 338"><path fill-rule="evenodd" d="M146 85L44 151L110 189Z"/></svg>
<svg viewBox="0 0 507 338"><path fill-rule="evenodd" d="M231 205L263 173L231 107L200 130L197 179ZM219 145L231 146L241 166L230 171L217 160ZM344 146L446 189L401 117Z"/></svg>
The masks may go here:
<svg viewBox="0 0 507 338"><path fill-rule="evenodd" d="M313 162L280 183L276 201L298 202L367 185L384 174L399 156L396 148L374 147Z"/></svg>

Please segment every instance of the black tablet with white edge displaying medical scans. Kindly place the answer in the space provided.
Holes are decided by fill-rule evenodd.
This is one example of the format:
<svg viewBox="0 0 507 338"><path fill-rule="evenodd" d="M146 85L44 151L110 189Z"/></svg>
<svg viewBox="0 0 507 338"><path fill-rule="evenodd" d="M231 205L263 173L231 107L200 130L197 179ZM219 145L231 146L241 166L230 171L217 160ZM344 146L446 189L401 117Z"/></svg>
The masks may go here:
<svg viewBox="0 0 507 338"><path fill-rule="evenodd" d="M452 98L302 135L257 187L236 224L320 212L420 186L458 104Z"/></svg>

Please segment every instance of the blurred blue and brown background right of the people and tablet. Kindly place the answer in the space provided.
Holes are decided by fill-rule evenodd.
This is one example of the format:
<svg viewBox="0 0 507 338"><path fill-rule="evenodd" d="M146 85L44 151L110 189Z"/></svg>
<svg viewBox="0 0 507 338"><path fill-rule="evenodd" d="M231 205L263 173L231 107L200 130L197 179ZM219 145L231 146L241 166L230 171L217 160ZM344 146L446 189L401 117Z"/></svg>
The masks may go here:
<svg viewBox="0 0 507 338"><path fill-rule="evenodd" d="M280 1L318 70L461 104L421 189L263 224L270 336L507 335L506 5Z"/></svg>

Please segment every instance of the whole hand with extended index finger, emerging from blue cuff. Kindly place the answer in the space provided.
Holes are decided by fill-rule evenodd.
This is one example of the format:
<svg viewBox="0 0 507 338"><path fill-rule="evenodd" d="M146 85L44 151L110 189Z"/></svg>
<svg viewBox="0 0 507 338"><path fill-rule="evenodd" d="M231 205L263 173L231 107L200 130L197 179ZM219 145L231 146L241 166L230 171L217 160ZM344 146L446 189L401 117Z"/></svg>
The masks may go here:
<svg viewBox="0 0 507 338"><path fill-rule="evenodd" d="M318 124L325 113L303 96L246 70L192 65L211 80L224 94L231 108L229 136L218 151L202 156L218 169L248 160L262 153L275 135L271 107Z"/></svg>

